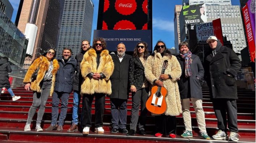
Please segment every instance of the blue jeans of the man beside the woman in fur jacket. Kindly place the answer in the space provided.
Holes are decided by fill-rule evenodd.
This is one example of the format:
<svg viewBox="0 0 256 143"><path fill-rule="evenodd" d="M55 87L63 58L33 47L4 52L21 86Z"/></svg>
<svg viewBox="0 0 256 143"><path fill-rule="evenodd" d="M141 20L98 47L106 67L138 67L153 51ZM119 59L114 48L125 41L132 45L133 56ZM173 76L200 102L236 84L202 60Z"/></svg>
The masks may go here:
<svg viewBox="0 0 256 143"><path fill-rule="evenodd" d="M68 98L69 93L66 92L54 92L52 95L52 122L51 125L57 124L57 118L59 115L59 102L61 99L61 109L59 117L59 126L63 126L64 120L68 110Z"/></svg>

